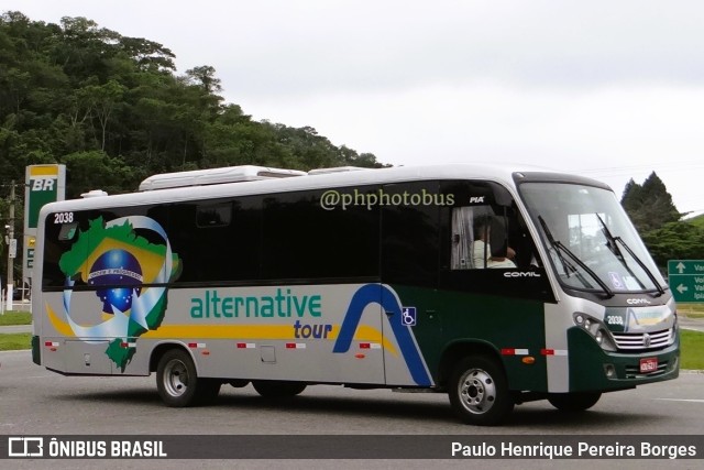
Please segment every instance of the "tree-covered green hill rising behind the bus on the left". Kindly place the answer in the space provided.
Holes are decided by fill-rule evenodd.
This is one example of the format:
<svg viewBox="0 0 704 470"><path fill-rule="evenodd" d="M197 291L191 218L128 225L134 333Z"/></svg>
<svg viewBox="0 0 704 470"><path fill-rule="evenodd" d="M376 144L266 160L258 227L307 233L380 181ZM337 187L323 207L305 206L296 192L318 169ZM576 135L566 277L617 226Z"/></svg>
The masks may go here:
<svg viewBox="0 0 704 470"><path fill-rule="evenodd" d="M64 163L67 197L134 190L163 172L229 165L382 166L312 128L254 121L219 95L212 66L177 75L162 44L85 18L0 18L0 184Z"/></svg>

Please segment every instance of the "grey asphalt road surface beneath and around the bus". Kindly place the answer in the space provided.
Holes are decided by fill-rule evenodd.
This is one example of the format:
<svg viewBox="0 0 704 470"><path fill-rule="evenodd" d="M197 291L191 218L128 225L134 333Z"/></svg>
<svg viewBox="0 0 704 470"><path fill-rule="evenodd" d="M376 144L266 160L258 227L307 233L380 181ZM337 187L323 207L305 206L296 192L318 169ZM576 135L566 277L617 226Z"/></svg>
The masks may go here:
<svg viewBox="0 0 704 470"><path fill-rule="evenodd" d="M703 435L704 373L606 394L590 412L565 415L547 402L516 407L503 427L459 424L442 394L308 387L285 402L261 398L251 386L223 387L215 406L175 409L162 405L154 378L65 378L32 363L30 351L0 352L0 435ZM704 449L702 449L704 451ZM6 463L10 466L6 466ZM571 460L571 468L701 468L702 460ZM3 468L46 467L9 460ZM427 468L427 460L53 460L52 469L95 468ZM237 463L237 466L234 466ZM443 461L468 468L477 461ZM490 468L563 468L564 461L486 460Z"/></svg>

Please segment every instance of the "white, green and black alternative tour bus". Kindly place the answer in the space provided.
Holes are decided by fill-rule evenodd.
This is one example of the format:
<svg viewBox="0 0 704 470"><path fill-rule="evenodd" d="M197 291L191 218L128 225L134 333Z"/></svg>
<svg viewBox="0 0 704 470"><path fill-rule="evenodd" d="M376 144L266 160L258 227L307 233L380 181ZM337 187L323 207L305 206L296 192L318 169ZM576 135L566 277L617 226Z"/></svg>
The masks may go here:
<svg viewBox="0 0 704 470"><path fill-rule="evenodd" d="M576 175L173 173L48 204L37 233L34 362L155 372L169 406L340 384L448 393L492 425L679 374L666 282L614 193Z"/></svg>

